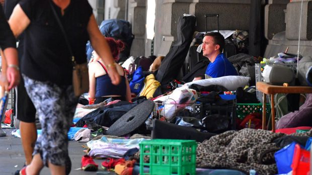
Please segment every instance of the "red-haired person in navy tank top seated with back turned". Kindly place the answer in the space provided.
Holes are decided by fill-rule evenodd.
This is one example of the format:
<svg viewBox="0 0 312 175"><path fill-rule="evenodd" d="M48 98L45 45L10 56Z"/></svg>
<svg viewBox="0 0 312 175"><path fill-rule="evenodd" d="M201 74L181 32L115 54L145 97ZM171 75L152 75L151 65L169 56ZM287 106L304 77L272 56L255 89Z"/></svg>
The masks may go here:
<svg viewBox="0 0 312 175"><path fill-rule="evenodd" d="M113 38L106 38L111 48L114 60L117 62L119 53L124 48L124 43ZM100 56L93 51L89 63L89 104L99 104L113 97L114 100L131 101L130 86L124 69L117 63L114 64L121 77L118 85L111 83L107 75L107 67L103 64Z"/></svg>

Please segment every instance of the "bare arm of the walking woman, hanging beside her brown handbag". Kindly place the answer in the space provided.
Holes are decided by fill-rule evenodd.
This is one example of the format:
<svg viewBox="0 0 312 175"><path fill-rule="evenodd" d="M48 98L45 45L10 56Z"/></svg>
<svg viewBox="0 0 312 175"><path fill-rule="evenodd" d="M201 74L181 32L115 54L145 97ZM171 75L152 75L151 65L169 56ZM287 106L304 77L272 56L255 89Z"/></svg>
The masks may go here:
<svg viewBox="0 0 312 175"><path fill-rule="evenodd" d="M91 15L90 17L87 30L92 47L102 58L106 67L108 67L108 75L111 78L112 83L115 85L119 84L121 78L117 72L116 66L114 65L115 61L112 57L110 47L107 44L105 37L101 34L94 15Z"/></svg>

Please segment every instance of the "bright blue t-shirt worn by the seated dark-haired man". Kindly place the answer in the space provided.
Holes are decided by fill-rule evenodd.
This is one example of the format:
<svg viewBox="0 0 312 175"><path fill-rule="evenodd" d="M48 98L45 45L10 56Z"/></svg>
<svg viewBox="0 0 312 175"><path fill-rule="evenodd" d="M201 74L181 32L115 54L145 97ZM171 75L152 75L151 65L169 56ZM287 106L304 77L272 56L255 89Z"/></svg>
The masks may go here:
<svg viewBox="0 0 312 175"><path fill-rule="evenodd" d="M223 53L220 53L213 62L208 64L205 74L213 78L238 75L235 67L224 57Z"/></svg>

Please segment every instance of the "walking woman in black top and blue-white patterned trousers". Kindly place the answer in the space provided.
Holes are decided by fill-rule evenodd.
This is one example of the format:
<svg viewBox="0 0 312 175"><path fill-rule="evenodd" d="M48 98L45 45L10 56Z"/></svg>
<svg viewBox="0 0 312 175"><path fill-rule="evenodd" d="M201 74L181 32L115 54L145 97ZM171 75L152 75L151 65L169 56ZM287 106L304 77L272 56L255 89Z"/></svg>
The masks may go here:
<svg viewBox="0 0 312 175"><path fill-rule="evenodd" d="M54 14L55 11L56 13ZM71 55L57 18L64 28L76 63L86 62L86 43L104 58L113 84L120 82L109 46L100 33L87 0L21 0L9 24L17 37L25 31L22 75L42 127L31 164L20 174L65 174L67 131L77 97L73 93Z"/></svg>

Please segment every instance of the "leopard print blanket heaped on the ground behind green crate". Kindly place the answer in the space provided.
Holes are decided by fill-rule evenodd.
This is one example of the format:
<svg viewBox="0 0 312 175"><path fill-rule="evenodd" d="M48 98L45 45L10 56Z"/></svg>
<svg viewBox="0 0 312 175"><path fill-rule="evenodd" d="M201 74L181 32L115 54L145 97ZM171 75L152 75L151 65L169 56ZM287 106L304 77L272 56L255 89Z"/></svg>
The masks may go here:
<svg viewBox="0 0 312 175"><path fill-rule="evenodd" d="M312 130L292 135L311 133ZM218 134L198 144L196 167L238 169L247 174L255 169L258 174L276 174L274 153L281 148L273 140L284 135L250 128Z"/></svg>

